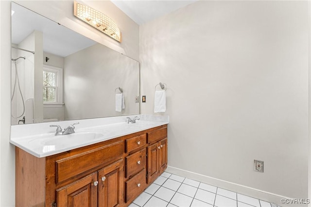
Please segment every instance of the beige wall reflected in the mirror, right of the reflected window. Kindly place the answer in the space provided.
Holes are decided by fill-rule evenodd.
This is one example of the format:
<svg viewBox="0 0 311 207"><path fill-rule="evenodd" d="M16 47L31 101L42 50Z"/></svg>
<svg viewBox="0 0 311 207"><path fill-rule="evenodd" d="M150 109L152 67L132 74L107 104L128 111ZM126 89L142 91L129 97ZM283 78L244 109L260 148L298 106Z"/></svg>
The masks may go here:
<svg viewBox="0 0 311 207"><path fill-rule="evenodd" d="M115 110L118 87L124 95L121 112ZM65 120L139 114L135 96L139 96L138 61L101 44L64 58Z"/></svg>

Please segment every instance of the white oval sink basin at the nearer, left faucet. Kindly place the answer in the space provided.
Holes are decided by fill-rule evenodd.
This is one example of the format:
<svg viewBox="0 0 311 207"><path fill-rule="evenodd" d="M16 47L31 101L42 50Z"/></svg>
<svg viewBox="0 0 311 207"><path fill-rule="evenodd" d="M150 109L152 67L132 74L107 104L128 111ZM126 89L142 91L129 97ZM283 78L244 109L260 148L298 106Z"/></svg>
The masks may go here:
<svg viewBox="0 0 311 207"><path fill-rule="evenodd" d="M86 140L92 140L96 138L103 137L104 134L97 132L76 132L69 135L60 135L53 136L52 138L48 138L46 140L42 140L41 144L43 145L66 145L69 143L80 143Z"/></svg>

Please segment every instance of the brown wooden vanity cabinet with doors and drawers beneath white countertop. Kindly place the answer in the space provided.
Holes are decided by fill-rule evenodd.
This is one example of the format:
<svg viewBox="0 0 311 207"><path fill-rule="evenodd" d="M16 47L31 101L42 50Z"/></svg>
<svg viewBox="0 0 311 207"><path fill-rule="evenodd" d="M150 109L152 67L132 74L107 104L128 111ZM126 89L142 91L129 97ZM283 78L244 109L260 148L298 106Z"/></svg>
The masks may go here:
<svg viewBox="0 0 311 207"><path fill-rule="evenodd" d="M137 132L44 157L17 146L16 206L130 205L167 167L167 123L157 125L117 124Z"/></svg>

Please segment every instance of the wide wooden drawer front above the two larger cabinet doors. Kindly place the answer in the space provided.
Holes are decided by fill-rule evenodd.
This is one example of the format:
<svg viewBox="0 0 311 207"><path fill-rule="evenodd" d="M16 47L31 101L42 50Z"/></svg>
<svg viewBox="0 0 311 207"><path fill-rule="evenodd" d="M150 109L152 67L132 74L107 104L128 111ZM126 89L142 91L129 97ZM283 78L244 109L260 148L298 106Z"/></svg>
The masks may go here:
<svg viewBox="0 0 311 207"><path fill-rule="evenodd" d="M123 155L123 149L123 141L118 141L78 155L56 160L56 183Z"/></svg>

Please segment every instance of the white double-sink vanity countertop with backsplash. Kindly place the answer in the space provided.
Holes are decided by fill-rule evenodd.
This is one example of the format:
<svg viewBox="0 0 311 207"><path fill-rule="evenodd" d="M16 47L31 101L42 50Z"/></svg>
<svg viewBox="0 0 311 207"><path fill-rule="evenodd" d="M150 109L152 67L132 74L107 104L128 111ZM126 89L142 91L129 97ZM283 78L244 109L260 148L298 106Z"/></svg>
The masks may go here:
<svg viewBox="0 0 311 207"><path fill-rule="evenodd" d="M168 116L138 117L140 120L129 124L126 117L115 117L13 125L10 143L36 157L45 157L169 123ZM74 122L80 124L75 125L75 133L69 135L54 136L56 128L50 127L51 124L57 124L66 128Z"/></svg>

